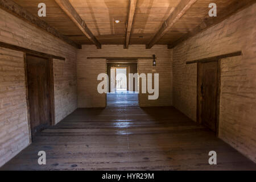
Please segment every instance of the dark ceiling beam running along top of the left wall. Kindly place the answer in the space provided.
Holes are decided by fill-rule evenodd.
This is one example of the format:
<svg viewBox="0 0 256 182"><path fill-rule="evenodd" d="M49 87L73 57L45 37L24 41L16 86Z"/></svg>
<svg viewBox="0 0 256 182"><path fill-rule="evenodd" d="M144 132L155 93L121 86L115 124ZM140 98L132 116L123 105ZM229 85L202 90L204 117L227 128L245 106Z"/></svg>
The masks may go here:
<svg viewBox="0 0 256 182"><path fill-rule="evenodd" d="M22 19L26 20L28 23L32 23L32 24L42 28L44 31L47 31L49 34L56 36L57 38L63 40L64 42L70 44L73 47L76 47L79 49L81 48L81 45L76 44L71 39L69 39L67 36L60 34L55 28L49 26L43 20L32 15L27 10L23 9L22 6L19 6L18 4L16 4L14 1L0 0L0 8L8 11L9 13L11 13L15 16L18 16L18 18L22 18Z"/></svg>

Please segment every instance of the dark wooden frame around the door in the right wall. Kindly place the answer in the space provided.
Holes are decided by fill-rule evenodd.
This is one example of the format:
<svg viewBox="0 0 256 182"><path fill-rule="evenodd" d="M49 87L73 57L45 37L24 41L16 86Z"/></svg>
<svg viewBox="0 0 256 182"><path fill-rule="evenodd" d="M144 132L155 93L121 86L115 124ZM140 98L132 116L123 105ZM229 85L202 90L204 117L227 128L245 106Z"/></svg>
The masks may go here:
<svg viewBox="0 0 256 182"><path fill-rule="evenodd" d="M203 97L201 95L201 82L203 76L202 65L209 62L218 62L217 67L217 98L216 98L216 136L219 134L219 123L220 123L220 93L221 93L221 60L210 60L197 63L197 104L196 104L196 122L202 124L202 109L203 109Z"/></svg>

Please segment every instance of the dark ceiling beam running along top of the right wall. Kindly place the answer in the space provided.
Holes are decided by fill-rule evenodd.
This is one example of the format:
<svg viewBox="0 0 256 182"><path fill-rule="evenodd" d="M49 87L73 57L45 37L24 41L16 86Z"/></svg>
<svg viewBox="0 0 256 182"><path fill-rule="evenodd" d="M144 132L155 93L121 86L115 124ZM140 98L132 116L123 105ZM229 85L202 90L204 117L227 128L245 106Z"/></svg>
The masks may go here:
<svg viewBox="0 0 256 182"><path fill-rule="evenodd" d="M175 42L168 45L169 49L174 48L184 40L187 40L191 38L192 36L195 36L196 34L199 34L200 32L203 32L207 30L207 28L210 28L214 26L215 24L218 24L222 22L224 19L228 18L229 16L232 16L233 14L237 13L238 11L241 11L245 9L248 6L253 5L255 3L255 0L236 0L232 4L230 4L228 7L226 7L224 10L217 13L217 17L209 17L205 19L199 26L194 28L192 31L188 32L184 36L182 36L180 39L176 40Z"/></svg>

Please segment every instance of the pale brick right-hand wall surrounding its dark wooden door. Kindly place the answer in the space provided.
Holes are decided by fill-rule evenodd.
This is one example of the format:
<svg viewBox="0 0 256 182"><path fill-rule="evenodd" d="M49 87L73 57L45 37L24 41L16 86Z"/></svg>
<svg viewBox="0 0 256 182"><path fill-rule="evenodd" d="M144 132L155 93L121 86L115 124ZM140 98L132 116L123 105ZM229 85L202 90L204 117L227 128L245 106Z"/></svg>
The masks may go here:
<svg viewBox="0 0 256 182"><path fill-rule="evenodd" d="M196 64L186 61L235 51L221 60L220 138L256 162L256 5L173 49L174 106L196 121Z"/></svg>

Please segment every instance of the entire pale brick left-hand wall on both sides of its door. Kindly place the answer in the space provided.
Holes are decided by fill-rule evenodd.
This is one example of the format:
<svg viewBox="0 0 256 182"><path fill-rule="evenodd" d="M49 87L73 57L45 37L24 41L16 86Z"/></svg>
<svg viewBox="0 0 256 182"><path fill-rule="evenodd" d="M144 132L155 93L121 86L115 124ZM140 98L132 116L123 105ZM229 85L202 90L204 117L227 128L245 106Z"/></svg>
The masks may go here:
<svg viewBox="0 0 256 182"><path fill-rule="evenodd" d="M0 9L0 41L66 58L54 61L56 123L77 108L76 48ZM0 166L28 145L23 53L0 49Z"/></svg>

